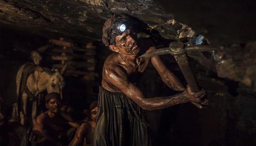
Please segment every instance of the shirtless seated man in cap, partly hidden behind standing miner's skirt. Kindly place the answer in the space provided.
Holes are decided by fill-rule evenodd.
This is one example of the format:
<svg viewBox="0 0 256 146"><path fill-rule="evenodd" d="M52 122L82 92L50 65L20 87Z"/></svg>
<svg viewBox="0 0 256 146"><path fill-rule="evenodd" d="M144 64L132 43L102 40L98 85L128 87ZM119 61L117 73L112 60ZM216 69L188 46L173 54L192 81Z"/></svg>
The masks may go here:
<svg viewBox="0 0 256 146"><path fill-rule="evenodd" d="M93 137L96 127L96 118L98 112L98 102L93 101L90 104L91 121L83 123L76 132L75 138L70 143L70 146L93 146Z"/></svg>

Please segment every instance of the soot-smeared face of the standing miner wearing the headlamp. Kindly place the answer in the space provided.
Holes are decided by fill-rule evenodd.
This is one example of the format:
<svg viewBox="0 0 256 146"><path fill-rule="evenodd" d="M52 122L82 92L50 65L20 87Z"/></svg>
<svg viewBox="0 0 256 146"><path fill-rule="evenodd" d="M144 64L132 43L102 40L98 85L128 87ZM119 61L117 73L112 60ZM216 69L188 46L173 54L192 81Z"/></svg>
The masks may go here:
<svg viewBox="0 0 256 146"><path fill-rule="evenodd" d="M116 46L122 54L137 54L140 49L137 45L136 35L129 29L125 30L122 35L116 36Z"/></svg>

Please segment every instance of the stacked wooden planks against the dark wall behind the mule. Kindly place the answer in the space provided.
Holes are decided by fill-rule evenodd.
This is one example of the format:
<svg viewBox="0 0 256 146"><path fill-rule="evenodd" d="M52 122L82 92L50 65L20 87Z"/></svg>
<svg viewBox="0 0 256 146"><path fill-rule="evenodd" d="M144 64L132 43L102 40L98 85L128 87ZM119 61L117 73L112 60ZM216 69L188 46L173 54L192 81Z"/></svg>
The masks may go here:
<svg viewBox="0 0 256 146"><path fill-rule="evenodd" d="M53 68L62 69L67 62L70 62L65 76L82 76L84 80L95 81L98 73L95 72L96 46L93 43L77 47L63 39L50 39L49 42L54 45L51 58L55 61L60 61L59 64L53 64Z"/></svg>

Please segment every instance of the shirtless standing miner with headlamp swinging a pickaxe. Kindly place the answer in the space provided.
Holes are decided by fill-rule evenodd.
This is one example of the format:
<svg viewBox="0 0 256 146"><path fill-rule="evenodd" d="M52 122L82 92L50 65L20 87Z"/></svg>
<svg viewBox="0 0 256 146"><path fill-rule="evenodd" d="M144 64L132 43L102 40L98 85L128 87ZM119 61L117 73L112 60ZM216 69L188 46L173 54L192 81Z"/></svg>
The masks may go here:
<svg viewBox="0 0 256 146"><path fill-rule="evenodd" d="M103 26L103 43L114 53L103 66L99 87L98 117L95 128L95 146L150 146L148 125L144 110L157 110L176 104L197 102L206 92L194 93L185 89L158 56L141 59L143 53L155 50L149 38L137 38L134 23L127 15L116 15ZM151 61L163 82L180 93L167 97L146 98L136 86L138 74ZM149 79L150 80L150 79Z"/></svg>

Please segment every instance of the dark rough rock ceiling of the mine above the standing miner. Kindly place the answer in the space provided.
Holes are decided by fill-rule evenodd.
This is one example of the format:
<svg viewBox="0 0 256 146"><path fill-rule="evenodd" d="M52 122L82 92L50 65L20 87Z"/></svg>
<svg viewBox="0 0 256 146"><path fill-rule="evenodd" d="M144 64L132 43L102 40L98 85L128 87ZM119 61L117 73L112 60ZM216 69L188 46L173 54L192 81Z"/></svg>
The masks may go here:
<svg viewBox="0 0 256 146"><path fill-rule="evenodd" d="M256 91L253 0L0 0L0 6L1 29L46 38L101 41L103 23L118 13L140 19L165 39L201 34L212 45L229 47L231 61L226 59L217 68L219 76L244 82ZM224 68L231 75L225 75Z"/></svg>

